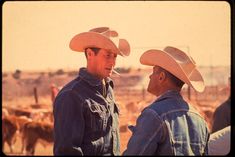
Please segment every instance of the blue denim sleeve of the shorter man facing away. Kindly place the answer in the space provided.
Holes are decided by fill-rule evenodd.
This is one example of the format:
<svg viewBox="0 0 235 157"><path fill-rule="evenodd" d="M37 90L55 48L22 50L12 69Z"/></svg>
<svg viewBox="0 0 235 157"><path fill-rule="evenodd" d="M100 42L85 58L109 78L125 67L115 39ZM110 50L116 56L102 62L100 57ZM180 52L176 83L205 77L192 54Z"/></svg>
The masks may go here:
<svg viewBox="0 0 235 157"><path fill-rule="evenodd" d="M137 119L123 155L153 155L164 135L162 124L155 111L145 109Z"/></svg>

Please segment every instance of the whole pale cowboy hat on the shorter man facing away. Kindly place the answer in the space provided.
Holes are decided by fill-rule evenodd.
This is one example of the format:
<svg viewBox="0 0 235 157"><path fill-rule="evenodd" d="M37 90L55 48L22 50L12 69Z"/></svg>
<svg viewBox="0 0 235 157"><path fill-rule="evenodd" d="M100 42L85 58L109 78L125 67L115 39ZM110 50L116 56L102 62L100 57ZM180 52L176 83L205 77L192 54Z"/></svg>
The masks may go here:
<svg viewBox="0 0 235 157"><path fill-rule="evenodd" d="M205 88L202 75L197 70L195 61L177 48L167 46L163 51L148 50L141 55L140 63L160 66L198 92L203 92Z"/></svg>

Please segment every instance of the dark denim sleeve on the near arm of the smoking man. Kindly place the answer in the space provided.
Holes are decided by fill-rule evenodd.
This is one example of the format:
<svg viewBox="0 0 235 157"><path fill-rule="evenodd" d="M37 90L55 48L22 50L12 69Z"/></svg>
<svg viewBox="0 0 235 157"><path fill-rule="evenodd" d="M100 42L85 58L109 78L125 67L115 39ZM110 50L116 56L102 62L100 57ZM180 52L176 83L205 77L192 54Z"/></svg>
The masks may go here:
<svg viewBox="0 0 235 157"><path fill-rule="evenodd" d="M54 103L54 155L83 155L83 102L72 90L57 96Z"/></svg>

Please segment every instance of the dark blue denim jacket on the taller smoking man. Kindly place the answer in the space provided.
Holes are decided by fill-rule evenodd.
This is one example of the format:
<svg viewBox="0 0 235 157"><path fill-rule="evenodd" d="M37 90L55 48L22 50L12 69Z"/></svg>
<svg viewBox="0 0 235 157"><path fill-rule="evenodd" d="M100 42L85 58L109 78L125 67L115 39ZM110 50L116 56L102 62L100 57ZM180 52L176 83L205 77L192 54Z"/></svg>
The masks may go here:
<svg viewBox="0 0 235 157"><path fill-rule="evenodd" d="M118 108L113 82L103 86L86 68L58 93L54 102L54 155L120 155Z"/></svg>

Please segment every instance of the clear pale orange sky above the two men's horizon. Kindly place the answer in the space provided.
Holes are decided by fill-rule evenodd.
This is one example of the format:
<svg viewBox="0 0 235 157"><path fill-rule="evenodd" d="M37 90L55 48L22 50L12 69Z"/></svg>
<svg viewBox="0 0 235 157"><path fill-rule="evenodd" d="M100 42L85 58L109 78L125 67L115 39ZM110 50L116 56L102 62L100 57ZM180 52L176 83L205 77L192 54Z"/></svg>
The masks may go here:
<svg viewBox="0 0 235 157"><path fill-rule="evenodd" d="M2 6L2 70L78 69L83 53L71 38L108 26L131 45L117 67L145 67L148 49L175 46L197 65L231 64L231 15L225 1L8 1Z"/></svg>

